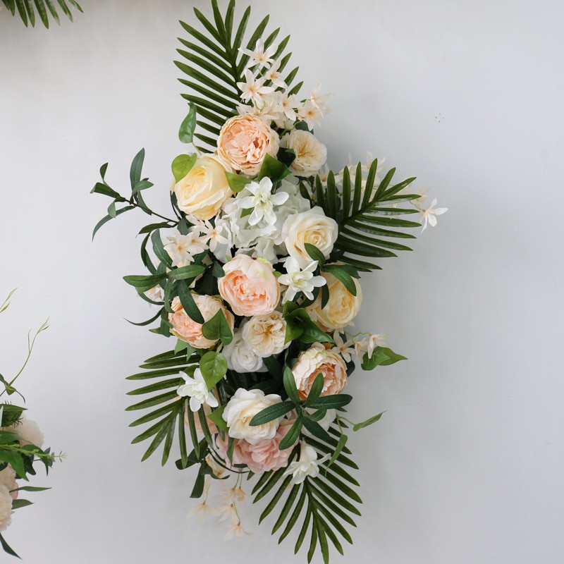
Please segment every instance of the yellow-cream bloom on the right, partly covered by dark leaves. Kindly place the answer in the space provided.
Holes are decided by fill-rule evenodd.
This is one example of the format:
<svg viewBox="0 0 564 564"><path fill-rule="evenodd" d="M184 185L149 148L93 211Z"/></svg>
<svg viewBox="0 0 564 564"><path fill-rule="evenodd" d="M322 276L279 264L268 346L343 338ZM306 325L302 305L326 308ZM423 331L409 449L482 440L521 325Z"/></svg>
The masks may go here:
<svg viewBox="0 0 564 564"><path fill-rule="evenodd" d="M317 300L306 309L314 321L319 321L327 329L343 329L343 327L346 327L355 319L360 310L360 305L362 304L362 288L360 288L360 283L358 283L356 278L353 278L357 288L357 295L353 295L333 274L321 272L321 276L327 281L329 301L321 309L320 293L317 296Z"/></svg>

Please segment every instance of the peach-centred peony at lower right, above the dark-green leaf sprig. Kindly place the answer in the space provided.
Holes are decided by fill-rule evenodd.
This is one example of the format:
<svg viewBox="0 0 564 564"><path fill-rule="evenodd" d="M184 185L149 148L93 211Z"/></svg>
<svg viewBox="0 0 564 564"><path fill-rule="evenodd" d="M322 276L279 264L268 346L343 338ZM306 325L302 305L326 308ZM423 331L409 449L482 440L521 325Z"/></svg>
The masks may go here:
<svg viewBox="0 0 564 564"><path fill-rule="evenodd" d="M341 393L347 384L345 361L334 350L326 350L321 343L314 343L311 348L300 354L292 368L298 396L305 400L311 390L317 374L323 375L321 396L333 396Z"/></svg>

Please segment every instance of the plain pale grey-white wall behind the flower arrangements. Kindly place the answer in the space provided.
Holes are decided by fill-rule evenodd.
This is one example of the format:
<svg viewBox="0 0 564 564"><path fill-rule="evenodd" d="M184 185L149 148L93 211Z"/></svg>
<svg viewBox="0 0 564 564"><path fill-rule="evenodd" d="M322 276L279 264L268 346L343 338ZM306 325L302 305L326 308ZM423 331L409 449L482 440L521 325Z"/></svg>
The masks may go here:
<svg viewBox="0 0 564 564"><path fill-rule="evenodd" d="M143 274L135 233L147 216L121 216L92 243L109 199L89 192L109 161L125 193L145 147L147 197L166 210L185 150L178 20L195 22L190 4L211 11L81 4L50 30L0 11L0 295L18 286L0 317L0 371L17 371L27 330L49 317L18 388L47 444L68 453L49 477L39 470L33 483L52 489L32 494L6 539L29 564L305 562L248 502L252 536L223 543L223 524L187 517L193 474L140 463L144 446L130 445L124 377L169 343L124 320L152 311L121 280ZM386 414L351 437L363 517L332 561L560 561L563 4L253 4L253 23L270 13L269 29L291 34L305 89L334 93L316 130L331 166L369 150L449 208L415 252L362 279L357 327L387 333L410 360L350 379L351 417Z"/></svg>

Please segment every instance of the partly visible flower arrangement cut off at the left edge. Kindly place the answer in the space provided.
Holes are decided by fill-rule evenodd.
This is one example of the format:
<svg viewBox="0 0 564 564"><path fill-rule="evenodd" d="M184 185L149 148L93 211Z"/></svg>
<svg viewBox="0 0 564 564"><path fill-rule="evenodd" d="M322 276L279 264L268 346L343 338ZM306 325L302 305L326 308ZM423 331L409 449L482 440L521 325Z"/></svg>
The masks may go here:
<svg viewBox="0 0 564 564"><path fill-rule="evenodd" d="M13 291L0 305L0 313L4 312L10 305ZM14 510L31 505L31 501L19 497L20 491L43 491L49 488L36 486L21 486L20 480L29 482L29 475L35 475L35 463L41 462L45 472L53 465L58 457L50 452L49 448L42 448L44 436L39 430L37 423L27 419L24 415L25 407L20 407L8 402L7 398L1 396L13 396L17 394L22 400L23 396L14 387L14 382L23 372L27 361L30 360L35 339L42 331L48 328L47 321L37 329L35 335L27 336L27 357L18 374L9 381L0 374L0 382L4 384L4 390L0 392L0 544L6 553L11 556L19 556L13 551L2 533L11 525ZM25 401L25 400L24 400Z"/></svg>

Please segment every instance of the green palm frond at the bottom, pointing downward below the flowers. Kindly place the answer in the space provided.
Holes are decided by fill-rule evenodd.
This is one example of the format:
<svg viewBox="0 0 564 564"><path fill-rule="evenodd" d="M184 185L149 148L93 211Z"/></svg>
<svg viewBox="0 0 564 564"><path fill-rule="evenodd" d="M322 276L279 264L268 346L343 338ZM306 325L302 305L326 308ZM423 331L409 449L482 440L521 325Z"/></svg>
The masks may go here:
<svg viewBox="0 0 564 564"><path fill-rule="evenodd" d="M340 434L336 427L331 429L333 434ZM343 554L341 539L352 544L345 525L356 527L352 515L360 515L357 504L362 500L353 489L358 482L350 476L345 466L348 458L343 455L345 450L343 441L328 439L319 441L304 437L306 443L317 450L318 458L326 453L333 453L340 442L343 447L336 455L335 461L321 462L319 476L307 477L301 484L294 484L290 489L290 475L285 475L286 469L262 475L252 490L253 503L269 497L266 507L262 511L260 521L264 520L275 509L279 510L278 517L272 528L272 534L283 527L278 542L286 539L293 530L298 530L295 541L295 552L302 547L309 534L307 561L312 560L317 548L321 551L324 562L329 562L329 543ZM294 447L288 465L298 457L300 447ZM349 451L350 452L350 451ZM286 525L285 525L286 523Z"/></svg>

